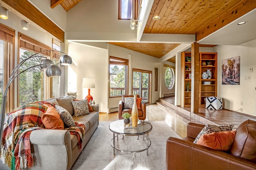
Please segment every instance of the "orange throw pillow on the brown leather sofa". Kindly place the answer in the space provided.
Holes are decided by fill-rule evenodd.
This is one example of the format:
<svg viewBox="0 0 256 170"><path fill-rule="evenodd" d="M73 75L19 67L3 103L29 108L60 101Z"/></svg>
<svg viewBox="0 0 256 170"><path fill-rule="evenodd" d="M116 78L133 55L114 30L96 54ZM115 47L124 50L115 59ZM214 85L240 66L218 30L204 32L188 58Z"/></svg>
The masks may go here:
<svg viewBox="0 0 256 170"><path fill-rule="evenodd" d="M221 131L202 135L196 144L212 149L228 151L234 142L236 131Z"/></svg>

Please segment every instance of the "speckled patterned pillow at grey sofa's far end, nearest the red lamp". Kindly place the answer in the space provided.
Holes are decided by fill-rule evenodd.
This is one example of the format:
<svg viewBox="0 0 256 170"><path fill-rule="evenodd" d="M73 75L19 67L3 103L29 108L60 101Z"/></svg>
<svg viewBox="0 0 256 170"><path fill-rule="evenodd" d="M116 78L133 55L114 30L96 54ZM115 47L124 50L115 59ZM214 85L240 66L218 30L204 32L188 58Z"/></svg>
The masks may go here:
<svg viewBox="0 0 256 170"><path fill-rule="evenodd" d="M75 117L90 114L87 100L71 101Z"/></svg>

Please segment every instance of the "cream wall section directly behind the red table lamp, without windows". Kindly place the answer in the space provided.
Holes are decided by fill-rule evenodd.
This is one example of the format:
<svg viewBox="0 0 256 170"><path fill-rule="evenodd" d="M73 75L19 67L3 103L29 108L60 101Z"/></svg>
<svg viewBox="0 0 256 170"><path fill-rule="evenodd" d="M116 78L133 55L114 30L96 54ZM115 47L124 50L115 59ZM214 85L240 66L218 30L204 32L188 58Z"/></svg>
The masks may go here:
<svg viewBox="0 0 256 170"><path fill-rule="evenodd" d="M100 105L100 112L108 109L108 51L86 45L69 43L68 55L72 57L70 66L76 73L77 98L84 99L88 89L83 89L83 78L95 78L95 88L90 89L93 100Z"/></svg>

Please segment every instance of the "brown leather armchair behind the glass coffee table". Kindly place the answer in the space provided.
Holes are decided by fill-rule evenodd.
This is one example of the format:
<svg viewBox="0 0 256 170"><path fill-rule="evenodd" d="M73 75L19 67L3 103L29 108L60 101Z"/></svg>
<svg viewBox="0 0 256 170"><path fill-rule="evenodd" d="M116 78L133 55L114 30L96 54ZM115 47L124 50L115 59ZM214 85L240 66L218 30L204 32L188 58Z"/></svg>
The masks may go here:
<svg viewBox="0 0 256 170"><path fill-rule="evenodd" d="M118 118L119 119L124 119L122 117L122 114L125 113L125 112L128 112L130 114L132 113L132 108L124 108L124 101L125 101L124 98L127 98L127 97L132 97L133 98L134 95L123 95L122 96L122 100L120 100L119 104L118 104ZM138 94L137 94L136 97L140 98L140 96ZM145 120L146 119L146 104L144 104L144 102L140 102L140 107L138 106L138 116L139 116L140 120Z"/></svg>

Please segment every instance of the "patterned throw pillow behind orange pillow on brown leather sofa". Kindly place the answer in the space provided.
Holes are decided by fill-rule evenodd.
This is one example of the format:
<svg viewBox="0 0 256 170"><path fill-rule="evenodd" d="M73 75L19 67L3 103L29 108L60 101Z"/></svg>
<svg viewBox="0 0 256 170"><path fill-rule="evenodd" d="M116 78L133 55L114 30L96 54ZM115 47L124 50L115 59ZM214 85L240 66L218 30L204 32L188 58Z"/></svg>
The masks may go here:
<svg viewBox="0 0 256 170"><path fill-rule="evenodd" d="M212 132L231 131L234 125L205 125L205 127L197 135L193 143L197 143L198 139L205 134Z"/></svg>

